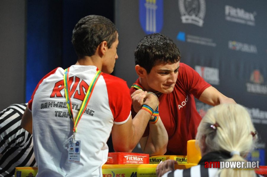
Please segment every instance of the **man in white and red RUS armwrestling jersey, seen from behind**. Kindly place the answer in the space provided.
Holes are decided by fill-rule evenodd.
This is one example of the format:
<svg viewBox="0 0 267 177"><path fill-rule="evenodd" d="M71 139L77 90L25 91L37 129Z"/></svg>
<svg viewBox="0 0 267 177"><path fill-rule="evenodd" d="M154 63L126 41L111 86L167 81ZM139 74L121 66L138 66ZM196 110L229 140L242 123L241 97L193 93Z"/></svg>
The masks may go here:
<svg viewBox="0 0 267 177"><path fill-rule="evenodd" d="M37 177L102 177L110 133L116 151L131 152L155 118L141 109L132 119L127 84L110 75L119 41L109 19L82 18L75 25L72 43L77 63L44 76L22 117L21 126L33 134ZM146 97L149 109L156 109L156 96L140 95Z"/></svg>

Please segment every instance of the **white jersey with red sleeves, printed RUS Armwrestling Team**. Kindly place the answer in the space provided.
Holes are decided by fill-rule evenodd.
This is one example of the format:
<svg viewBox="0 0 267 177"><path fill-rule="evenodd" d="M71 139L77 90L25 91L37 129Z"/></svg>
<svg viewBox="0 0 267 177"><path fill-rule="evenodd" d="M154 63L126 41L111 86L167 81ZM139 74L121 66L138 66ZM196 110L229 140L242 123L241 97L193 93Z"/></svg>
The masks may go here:
<svg viewBox="0 0 267 177"><path fill-rule="evenodd" d="M76 117L98 68L72 65L69 71L70 98ZM33 116L34 153L37 176L101 176L107 161L107 140L113 124L123 124L131 115L131 97L126 81L102 73L77 126L81 140L79 163L68 163L68 143L73 121L68 113L63 74L56 68L36 86L28 107Z"/></svg>

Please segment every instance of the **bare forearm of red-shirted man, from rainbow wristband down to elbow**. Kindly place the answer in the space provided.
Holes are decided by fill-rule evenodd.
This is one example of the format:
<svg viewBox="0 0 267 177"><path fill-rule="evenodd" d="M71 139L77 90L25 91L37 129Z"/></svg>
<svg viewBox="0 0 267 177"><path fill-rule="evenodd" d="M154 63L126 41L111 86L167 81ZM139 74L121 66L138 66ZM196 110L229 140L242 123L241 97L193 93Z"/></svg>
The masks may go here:
<svg viewBox="0 0 267 177"><path fill-rule="evenodd" d="M164 155L168 144L167 131L159 117L157 123L149 123L149 135L140 143L144 153L152 155Z"/></svg>

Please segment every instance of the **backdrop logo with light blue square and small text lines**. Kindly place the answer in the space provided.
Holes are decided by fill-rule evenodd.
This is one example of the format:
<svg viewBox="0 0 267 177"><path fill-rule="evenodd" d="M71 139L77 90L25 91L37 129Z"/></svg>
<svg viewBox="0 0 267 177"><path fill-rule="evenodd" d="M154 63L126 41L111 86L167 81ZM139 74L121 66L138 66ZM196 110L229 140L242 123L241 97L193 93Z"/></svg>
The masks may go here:
<svg viewBox="0 0 267 177"><path fill-rule="evenodd" d="M216 43L213 42L213 39L207 38L207 37L200 37L195 35L186 35L185 32L178 32L178 35L176 37L177 40L183 41L183 42L190 42L200 45L207 45L210 47L216 47Z"/></svg>

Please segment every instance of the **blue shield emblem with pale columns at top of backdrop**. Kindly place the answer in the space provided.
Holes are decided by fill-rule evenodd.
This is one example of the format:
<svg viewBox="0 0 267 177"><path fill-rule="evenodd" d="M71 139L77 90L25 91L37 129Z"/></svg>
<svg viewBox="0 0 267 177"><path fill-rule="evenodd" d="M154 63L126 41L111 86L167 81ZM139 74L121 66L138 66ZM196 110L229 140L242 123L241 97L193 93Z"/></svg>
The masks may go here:
<svg viewBox="0 0 267 177"><path fill-rule="evenodd" d="M163 0L139 0L139 20L146 34L160 33L163 27Z"/></svg>

